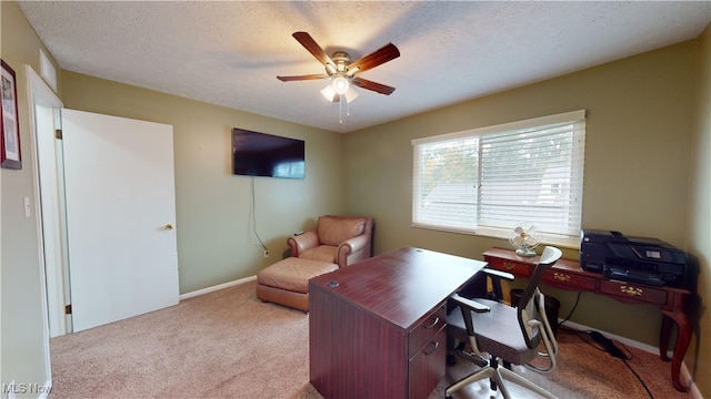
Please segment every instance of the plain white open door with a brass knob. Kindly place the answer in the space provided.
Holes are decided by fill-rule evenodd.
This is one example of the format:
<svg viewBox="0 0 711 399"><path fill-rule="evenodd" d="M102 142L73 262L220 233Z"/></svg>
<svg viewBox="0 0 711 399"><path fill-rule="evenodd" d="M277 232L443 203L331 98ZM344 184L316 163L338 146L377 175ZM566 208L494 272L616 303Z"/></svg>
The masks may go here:
<svg viewBox="0 0 711 399"><path fill-rule="evenodd" d="M172 126L62 110L74 331L178 304Z"/></svg>

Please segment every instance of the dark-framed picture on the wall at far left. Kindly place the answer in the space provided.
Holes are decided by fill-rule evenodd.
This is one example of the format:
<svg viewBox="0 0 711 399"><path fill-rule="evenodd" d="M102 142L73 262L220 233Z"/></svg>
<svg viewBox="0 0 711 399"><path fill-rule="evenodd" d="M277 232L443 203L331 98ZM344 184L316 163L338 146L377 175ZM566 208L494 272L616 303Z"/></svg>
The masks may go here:
<svg viewBox="0 0 711 399"><path fill-rule="evenodd" d="M2 63L2 90L0 99L0 166L6 168L22 168L22 154L20 153L20 125L18 123L18 88L14 71L10 65Z"/></svg>

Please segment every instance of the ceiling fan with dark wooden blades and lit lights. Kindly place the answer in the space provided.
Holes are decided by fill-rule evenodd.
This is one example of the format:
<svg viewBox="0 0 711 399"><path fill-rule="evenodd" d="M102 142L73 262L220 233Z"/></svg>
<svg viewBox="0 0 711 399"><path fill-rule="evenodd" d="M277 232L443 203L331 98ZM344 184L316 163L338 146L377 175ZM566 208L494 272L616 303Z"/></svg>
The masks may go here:
<svg viewBox="0 0 711 399"><path fill-rule="evenodd" d="M294 32L292 34L294 39L301 45L304 47L319 62L326 68L326 73L314 73L296 76L277 76L282 82L301 81L301 80L317 80L317 79L330 79L331 83L321 90L321 94L331 101L337 102L341 100L341 95L346 96L347 102L353 101L358 96L358 92L351 88L356 85L361 89L371 90L380 94L390 95L395 88L369 81L367 79L358 76L359 73L373 69L380 64L383 64L390 60L400 57L398 48L388 43L374 52L351 62L350 55L344 51L337 51L333 55L329 57L326 51L311 38L307 32Z"/></svg>

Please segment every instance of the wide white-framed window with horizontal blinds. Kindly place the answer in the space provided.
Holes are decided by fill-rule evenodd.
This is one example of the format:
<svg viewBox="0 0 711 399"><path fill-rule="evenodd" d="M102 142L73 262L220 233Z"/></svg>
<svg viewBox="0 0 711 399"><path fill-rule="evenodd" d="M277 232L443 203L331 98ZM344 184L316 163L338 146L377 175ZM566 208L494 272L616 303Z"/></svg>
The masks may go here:
<svg viewBox="0 0 711 399"><path fill-rule="evenodd" d="M584 110L412 141L412 225L578 246Z"/></svg>

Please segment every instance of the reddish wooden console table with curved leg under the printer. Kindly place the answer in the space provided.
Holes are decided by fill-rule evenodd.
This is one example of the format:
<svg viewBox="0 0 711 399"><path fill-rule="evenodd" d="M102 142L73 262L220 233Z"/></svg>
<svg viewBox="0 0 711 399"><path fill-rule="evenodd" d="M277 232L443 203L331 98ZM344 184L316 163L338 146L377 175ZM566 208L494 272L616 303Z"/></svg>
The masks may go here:
<svg viewBox="0 0 711 399"><path fill-rule="evenodd" d="M489 267L509 272L517 277L530 277L538 257L527 258L515 255L513 250L491 248L484 252L484 260ZM677 324L677 342L671 359L671 379L677 390L688 390L679 380L681 362L691 340L691 321L684 311L684 300L691 295L687 289L673 287L654 287L637 283L625 283L604 277L600 273L585 272L577 260L560 259L543 275L543 284L567 290L590 291L604 295L627 304L651 304L663 314L659 352L664 361L669 361L667 349L672 323Z"/></svg>

